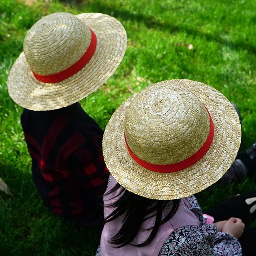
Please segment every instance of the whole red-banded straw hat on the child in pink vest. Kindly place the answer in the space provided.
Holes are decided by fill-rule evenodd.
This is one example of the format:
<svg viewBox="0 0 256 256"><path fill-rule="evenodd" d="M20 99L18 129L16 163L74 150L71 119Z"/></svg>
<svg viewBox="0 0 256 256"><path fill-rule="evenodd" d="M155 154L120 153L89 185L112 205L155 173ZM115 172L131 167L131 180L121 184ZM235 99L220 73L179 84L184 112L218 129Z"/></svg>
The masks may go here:
<svg viewBox="0 0 256 256"><path fill-rule="evenodd" d="M240 142L239 118L225 96L206 84L169 80L117 108L105 129L103 155L130 192L172 200L219 180Z"/></svg>

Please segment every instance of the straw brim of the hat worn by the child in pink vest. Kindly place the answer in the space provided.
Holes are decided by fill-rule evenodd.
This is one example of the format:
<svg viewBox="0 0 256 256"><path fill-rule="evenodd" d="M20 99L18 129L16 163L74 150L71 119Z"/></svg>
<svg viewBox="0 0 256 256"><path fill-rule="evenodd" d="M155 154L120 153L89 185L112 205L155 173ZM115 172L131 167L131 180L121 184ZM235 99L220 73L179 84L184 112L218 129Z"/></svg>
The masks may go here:
<svg viewBox="0 0 256 256"><path fill-rule="evenodd" d="M232 104L209 85L185 79L157 84L170 88L172 84L178 84L194 93L209 110L214 123L214 138L206 155L189 168L173 173L153 172L137 164L124 140L125 111L136 97L134 95L116 109L106 126L104 160L116 181L132 193L159 200L184 198L211 186L225 174L240 146L241 125Z"/></svg>

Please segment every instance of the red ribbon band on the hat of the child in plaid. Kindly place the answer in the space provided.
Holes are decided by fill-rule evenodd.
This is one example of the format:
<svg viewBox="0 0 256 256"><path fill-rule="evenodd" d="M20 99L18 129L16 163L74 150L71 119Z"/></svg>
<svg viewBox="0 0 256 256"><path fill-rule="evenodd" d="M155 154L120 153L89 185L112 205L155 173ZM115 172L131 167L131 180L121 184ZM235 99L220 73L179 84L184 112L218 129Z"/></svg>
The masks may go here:
<svg viewBox="0 0 256 256"><path fill-rule="evenodd" d="M59 83L67 79L68 77L75 75L78 71L84 68L85 65L92 59L92 56L97 46L97 37L95 33L92 31L92 29L90 29L90 31L92 35L91 43L86 52L84 53L84 55L81 57L81 59L76 61L76 63L74 63L69 68L62 70L60 73L57 74L41 76L32 71L36 79L43 83Z"/></svg>

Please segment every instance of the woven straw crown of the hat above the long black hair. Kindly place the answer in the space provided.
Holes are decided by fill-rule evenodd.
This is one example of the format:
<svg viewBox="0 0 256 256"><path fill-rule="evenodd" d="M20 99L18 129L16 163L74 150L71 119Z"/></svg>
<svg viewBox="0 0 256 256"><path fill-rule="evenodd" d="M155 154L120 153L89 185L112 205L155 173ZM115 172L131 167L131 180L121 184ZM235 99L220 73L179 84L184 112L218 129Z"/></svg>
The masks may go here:
<svg viewBox="0 0 256 256"><path fill-rule="evenodd" d="M210 131L209 114L192 92L156 87L137 95L128 107L127 144L151 164L178 163L203 146Z"/></svg>

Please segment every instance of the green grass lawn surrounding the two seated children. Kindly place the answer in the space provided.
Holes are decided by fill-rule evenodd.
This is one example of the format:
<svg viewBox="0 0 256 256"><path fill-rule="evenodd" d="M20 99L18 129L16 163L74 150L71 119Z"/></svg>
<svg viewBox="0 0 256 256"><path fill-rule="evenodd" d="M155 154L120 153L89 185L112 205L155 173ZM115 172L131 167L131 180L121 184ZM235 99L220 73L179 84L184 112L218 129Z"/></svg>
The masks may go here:
<svg viewBox="0 0 256 256"><path fill-rule="evenodd" d="M11 198L0 195L0 254L5 256L94 255L99 244L99 231L77 229L42 204L21 129L22 108L10 99L6 86L28 29L43 15L61 11L103 12L120 20L127 31L128 48L120 67L100 90L81 101L103 129L130 91L187 78L209 84L236 102L244 147L256 140L256 1L37 0L28 6L0 0L0 177L13 193ZM245 178L205 193L201 206L213 206L255 185Z"/></svg>

